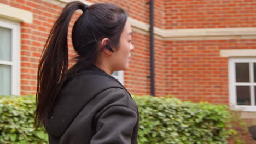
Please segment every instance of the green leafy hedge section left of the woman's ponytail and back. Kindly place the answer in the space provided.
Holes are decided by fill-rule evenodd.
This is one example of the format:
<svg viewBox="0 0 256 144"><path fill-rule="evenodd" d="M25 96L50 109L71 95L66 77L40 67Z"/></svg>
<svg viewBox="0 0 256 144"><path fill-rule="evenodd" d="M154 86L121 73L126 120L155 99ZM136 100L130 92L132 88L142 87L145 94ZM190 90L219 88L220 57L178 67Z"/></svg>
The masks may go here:
<svg viewBox="0 0 256 144"><path fill-rule="evenodd" d="M47 143L43 127L33 127L34 96L0 97L0 143Z"/></svg>

